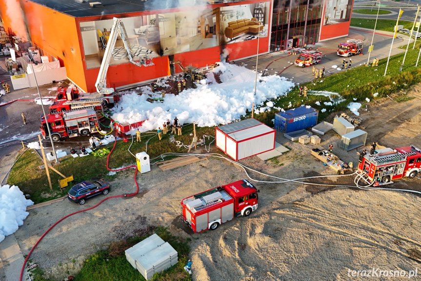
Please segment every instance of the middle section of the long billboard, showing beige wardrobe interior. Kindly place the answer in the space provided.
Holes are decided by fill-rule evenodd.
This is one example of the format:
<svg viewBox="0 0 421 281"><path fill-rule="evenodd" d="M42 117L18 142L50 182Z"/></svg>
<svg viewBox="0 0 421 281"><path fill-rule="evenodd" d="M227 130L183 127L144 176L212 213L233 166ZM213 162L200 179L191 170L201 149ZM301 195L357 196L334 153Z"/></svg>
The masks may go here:
<svg viewBox="0 0 421 281"><path fill-rule="evenodd" d="M162 55L218 46L218 17L218 8L159 14Z"/></svg>

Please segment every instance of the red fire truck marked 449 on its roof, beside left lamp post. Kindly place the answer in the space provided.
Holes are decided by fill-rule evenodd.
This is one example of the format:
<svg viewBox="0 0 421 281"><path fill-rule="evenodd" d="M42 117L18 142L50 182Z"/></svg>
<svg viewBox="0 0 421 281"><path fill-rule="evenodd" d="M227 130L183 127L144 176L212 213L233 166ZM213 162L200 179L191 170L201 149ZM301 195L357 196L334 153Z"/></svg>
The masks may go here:
<svg viewBox="0 0 421 281"><path fill-rule="evenodd" d="M63 112L62 114L48 114L45 117L41 116L40 130L44 139L48 137L47 123L50 126L53 141L97 132L96 127L99 124L97 113L93 108Z"/></svg>

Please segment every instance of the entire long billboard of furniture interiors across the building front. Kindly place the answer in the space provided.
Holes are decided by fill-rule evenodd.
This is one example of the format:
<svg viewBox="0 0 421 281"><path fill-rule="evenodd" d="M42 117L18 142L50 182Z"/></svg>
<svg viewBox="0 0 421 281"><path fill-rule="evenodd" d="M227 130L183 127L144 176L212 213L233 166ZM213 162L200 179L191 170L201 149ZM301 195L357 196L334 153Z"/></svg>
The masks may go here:
<svg viewBox="0 0 421 281"><path fill-rule="evenodd" d="M267 37L270 2L122 18L134 60ZM87 69L100 67L113 20L80 22ZM119 36L110 65L129 62Z"/></svg>

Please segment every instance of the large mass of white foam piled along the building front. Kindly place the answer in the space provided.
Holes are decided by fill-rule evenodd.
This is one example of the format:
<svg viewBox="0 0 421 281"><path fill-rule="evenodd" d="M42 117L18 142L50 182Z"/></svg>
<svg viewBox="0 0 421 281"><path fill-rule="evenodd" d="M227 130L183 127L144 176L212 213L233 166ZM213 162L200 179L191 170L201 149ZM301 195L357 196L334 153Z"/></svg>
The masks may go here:
<svg viewBox="0 0 421 281"><path fill-rule="evenodd" d="M214 73L222 72L221 84ZM231 123L252 109L256 72L238 65L221 64L207 74L211 84L200 83L197 88L189 88L179 95L167 94L163 103L150 103L147 94L135 92L122 96L119 108L113 109L113 119L122 124L133 124L146 120L140 131L157 130L167 121L177 116L180 124L196 122L200 127ZM255 97L256 112L273 107L270 99L285 95L294 85L284 77L270 75L257 77ZM143 93L150 93L150 87L142 87ZM160 97L160 93L153 97ZM122 108L122 109L121 109ZM121 110L121 111L120 111Z"/></svg>

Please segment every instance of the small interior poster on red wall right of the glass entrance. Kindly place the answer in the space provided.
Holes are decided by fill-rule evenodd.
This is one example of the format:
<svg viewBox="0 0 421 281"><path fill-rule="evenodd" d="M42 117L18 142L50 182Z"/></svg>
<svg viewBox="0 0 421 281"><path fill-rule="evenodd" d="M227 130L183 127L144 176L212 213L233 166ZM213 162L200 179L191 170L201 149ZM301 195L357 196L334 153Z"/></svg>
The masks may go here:
<svg viewBox="0 0 421 281"><path fill-rule="evenodd" d="M349 22L353 0L326 0L323 25Z"/></svg>

